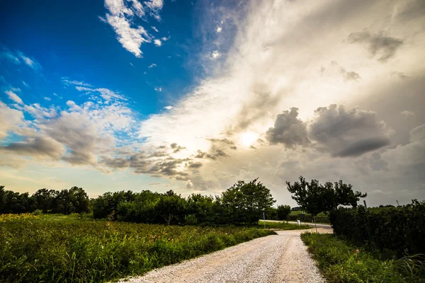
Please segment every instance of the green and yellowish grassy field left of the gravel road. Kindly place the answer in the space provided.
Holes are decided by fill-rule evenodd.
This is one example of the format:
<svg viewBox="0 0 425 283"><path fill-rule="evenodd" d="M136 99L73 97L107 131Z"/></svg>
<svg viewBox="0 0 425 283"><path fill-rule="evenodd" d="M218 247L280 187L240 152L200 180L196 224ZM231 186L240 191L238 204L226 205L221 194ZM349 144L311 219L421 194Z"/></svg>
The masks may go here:
<svg viewBox="0 0 425 283"><path fill-rule="evenodd" d="M273 233L2 214L0 282L106 282Z"/></svg>

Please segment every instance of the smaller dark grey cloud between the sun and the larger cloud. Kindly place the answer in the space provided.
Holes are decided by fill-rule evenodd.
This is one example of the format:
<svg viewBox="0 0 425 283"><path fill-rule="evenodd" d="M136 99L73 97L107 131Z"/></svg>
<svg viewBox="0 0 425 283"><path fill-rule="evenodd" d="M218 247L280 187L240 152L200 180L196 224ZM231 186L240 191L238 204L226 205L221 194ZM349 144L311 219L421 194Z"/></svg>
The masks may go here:
<svg viewBox="0 0 425 283"><path fill-rule="evenodd" d="M309 144L305 123L297 118L298 108L286 110L276 117L274 127L266 132L266 137L271 144L284 144L292 148Z"/></svg>

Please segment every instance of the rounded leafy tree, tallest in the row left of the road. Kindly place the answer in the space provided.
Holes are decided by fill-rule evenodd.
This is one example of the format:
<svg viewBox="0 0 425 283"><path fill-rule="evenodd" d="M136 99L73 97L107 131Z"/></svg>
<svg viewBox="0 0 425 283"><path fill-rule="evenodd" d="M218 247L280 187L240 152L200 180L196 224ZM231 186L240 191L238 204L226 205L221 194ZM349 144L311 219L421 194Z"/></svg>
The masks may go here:
<svg viewBox="0 0 425 283"><path fill-rule="evenodd" d="M249 183L239 180L222 192L221 204L227 212L227 220L232 224L256 224L261 212L273 205L270 190L258 178Z"/></svg>

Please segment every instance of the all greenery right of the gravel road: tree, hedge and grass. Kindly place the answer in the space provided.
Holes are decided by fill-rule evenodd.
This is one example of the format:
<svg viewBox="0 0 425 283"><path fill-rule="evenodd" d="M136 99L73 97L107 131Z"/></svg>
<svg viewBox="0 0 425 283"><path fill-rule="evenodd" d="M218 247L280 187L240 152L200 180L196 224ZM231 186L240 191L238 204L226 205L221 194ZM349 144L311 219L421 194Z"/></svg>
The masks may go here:
<svg viewBox="0 0 425 283"><path fill-rule="evenodd" d="M302 235L329 282L425 282L425 202L366 209L342 181L287 184L300 209L329 215L334 235Z"/></svg>

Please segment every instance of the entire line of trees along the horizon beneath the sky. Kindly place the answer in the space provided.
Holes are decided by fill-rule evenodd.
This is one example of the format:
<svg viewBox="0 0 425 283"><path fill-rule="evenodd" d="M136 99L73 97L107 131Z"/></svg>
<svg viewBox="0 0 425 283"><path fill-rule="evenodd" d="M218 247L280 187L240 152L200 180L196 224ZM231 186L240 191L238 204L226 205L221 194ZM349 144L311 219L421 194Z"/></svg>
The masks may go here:
<svg viewBox="0 0 425 283"><path fill-rule="evenodd" d="M299 208L316 216L319 212L330 212L339 205L356 207L360 197L366 195L353 192L352 186L342 181L319 184L310 183L300 176L291 185L289 192ZM273 207L270 190L258 178L237 183L215 197L192 194L181 197L173 190L165 193L143 190L142 192L106 192L89 199L81 187L69 190L41 189L33 195L4 190L0 187L0 213L24 213L40 209L44 213L93 212L96 219L110 219L150 224L256 224L263 212L267 219L288 220L291 209L288 205ZM298 208L297 208L298 209Z"/></svg>

